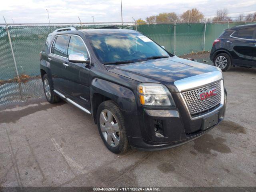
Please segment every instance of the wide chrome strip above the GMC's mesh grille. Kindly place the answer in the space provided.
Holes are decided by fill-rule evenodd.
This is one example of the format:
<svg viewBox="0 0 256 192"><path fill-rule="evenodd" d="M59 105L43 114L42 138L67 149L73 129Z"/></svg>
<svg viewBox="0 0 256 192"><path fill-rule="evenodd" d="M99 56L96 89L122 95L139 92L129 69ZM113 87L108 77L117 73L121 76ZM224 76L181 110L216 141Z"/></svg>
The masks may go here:
<svg viewBox="0 0 256 192"><path fill-rule="evenodd" d="M179 92L183 92L202 87L222 79L222 72L218 70L177 80L174 82L174 85Z"/></svg>

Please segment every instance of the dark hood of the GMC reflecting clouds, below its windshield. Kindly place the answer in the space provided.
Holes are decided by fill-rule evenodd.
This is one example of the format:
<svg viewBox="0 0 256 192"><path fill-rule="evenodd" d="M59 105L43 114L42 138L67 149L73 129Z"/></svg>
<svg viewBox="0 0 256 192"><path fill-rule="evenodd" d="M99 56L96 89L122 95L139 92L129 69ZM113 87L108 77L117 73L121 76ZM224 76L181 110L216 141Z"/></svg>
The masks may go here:
<svg viewBox="0 0 256 192"><path fill-rule="evenodd" d="M170 91L174 92L178 90L170 86L173 86L175 81L218 71L215 66L178 58L177 56L109 66L107 70L142 83L165 84L171 89Z"/></svg>

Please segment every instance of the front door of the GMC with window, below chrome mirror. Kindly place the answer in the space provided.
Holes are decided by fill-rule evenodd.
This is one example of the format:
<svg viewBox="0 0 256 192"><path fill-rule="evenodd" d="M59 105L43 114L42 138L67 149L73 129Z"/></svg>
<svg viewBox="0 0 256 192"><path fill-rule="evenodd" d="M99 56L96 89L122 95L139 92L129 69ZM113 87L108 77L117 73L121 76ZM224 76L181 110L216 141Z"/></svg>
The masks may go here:
<svg viewBox="0 0 256 192"><path fill-rule="evenodd" d="M68 55L81 53L85 58L90 54L84 40L78 35L71 35L68 44ZM89 72L90 64L73 63L67 61L63 64L63 78L65 81L65 92L71 99L76 100L81 106L90 108L89 94Z"/></svg>

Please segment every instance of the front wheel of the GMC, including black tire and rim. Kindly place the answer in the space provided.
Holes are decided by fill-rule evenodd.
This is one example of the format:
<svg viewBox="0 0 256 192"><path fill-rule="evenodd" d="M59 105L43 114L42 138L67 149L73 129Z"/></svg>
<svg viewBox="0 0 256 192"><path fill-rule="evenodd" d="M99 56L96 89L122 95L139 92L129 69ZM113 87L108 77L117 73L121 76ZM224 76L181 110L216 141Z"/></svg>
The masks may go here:
<svg viewBox="0 0 256 192"><path fill-rule="evenodd" d="M124 126L124 117L112 100L102 102L99 105L97 125L100 137L111 152L124 154L128 151L130 145Z"/></svg>

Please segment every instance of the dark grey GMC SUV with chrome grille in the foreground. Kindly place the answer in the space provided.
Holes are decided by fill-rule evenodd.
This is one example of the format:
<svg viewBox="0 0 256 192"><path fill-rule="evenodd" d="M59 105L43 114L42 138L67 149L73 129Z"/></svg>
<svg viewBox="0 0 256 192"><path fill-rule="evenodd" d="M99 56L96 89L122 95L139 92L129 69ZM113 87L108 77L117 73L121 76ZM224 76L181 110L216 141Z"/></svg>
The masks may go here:
<svg viewBox="0 0 256 192"><path fill-rule="evenodd" d="M91 114L114 153L178 146L224 118L219 68L178 58L134 30L59 29L40 55L48 102L62 98Z"/></svg>

